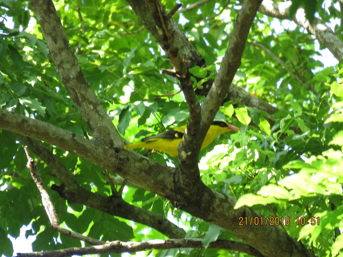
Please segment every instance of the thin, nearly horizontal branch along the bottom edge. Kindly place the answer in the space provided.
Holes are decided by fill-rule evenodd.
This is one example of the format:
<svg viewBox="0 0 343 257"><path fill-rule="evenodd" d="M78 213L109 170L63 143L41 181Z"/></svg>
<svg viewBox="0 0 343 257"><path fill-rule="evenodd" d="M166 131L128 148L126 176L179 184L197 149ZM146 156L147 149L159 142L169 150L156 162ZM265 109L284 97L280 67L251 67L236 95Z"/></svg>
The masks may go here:
<svg viewBox="0 0 343 257"><path fill-rule="evenodd" d="M64 257L71 255L85 255L85 254L109 254L109 253L134 253L153 249L172 249L172 248L204 248L201 243L201 238L189 239L171 239L171 240L150 240L147 242L120 242L113 241L105 245L97 245L91 247L73 247L62 250L34 252L22 254L18 257ZM222 248L228 250L235 250L237 252L247 253L253 256L263 257L256 249L238 242L230 242L225 240L217 240L210 243L208 248Z"/></svg>

